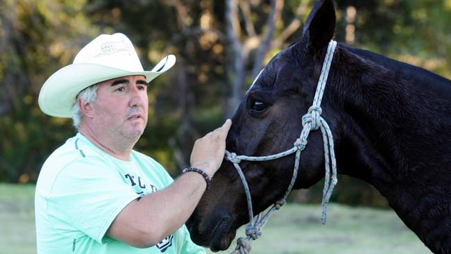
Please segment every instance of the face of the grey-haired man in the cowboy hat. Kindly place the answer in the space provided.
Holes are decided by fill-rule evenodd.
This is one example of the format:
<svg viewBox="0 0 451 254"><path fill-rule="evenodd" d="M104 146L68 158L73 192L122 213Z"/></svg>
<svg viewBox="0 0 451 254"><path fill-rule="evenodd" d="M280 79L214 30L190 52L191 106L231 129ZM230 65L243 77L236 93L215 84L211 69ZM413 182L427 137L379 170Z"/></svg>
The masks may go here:
<svg viewBox="0 0 451 254"><path fill-rule="evenodd" d="M93 124L109 138L138 139L147 124L148 97L144 76L103 81L97 88Z"/></svg>

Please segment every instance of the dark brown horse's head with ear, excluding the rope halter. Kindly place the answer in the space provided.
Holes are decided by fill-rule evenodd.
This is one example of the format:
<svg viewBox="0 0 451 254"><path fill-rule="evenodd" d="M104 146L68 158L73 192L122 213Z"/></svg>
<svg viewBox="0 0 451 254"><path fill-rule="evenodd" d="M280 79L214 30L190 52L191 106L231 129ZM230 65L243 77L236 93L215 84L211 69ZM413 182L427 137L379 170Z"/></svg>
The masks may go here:
<svg viewBox="0 0 451 254"><path fill-rule="evenodd" d="M301 117L312 105L327 44L332 39L335 10L332 1L317 2L307 18L303 37L275 56L246 93L227 137L227 150L238 155L273 155L293 147L303 128ZM327 87L326 92L327 94ZM334 126L334 112L321 105L323 117ZM300 155L295 188L307 188L324 176L323 139L312 132ZM242 161L255 214L286 191L294 155L265 162ZM246 195L232 163L224 161L187 222L192 239L212 251L230 246L239 226L248 222Z"/></svg>

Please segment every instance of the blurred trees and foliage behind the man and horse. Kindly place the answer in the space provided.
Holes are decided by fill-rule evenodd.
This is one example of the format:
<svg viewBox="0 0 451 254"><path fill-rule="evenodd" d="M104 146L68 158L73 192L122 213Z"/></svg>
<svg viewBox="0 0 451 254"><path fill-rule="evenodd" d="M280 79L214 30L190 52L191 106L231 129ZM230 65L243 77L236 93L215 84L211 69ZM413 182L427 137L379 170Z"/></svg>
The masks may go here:
<svg viewBox="0 0 451 254"><path fill-rule="evenodd" d="M176 66L149 87L135 147L176 177L194 140L231 117L253 78L300 39L313 0L0 0L0 182L35 183L46 157L75 134L44 115L46 78L100 33L121 32L144 69ZM337 0L335 40L451 78L451 0ZM322 183L291 201L321 202ZM0 194L1 195L1 194ZM332 201L386 207L371 186L341 177Z"/></svg>

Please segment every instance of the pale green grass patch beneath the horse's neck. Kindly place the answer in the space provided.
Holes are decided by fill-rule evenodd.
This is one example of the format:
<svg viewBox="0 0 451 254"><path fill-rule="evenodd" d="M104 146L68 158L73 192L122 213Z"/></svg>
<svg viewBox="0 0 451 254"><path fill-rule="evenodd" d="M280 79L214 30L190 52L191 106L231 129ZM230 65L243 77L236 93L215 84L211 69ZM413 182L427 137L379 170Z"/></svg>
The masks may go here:
<svg viewBox="0 0 451 254"><path fill-rule="evenodd" d="M237 237L244 236L241 227ZM235 248L235 242L228 251ZM321 205L285 205L252 243L258 254L427 254L432 253L391 210L330 203L327 223ZM210 252L212 253L212 252Z"/></svg>

